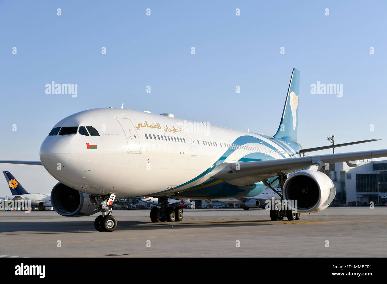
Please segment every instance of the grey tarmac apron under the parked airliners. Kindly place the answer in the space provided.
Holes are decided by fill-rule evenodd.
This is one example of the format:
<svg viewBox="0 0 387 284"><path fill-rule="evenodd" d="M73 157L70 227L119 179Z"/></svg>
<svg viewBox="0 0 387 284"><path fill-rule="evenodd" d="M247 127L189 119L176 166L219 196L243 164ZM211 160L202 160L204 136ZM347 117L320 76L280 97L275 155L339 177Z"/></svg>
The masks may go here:
<svg viewBox="0 0 387 284"><path fill-rule="evenodd" d="M152 223L149 213L113 210L117 229L97 232L93 225L97 214L77 218L63 217L55 211L0 211L0 256L387 255L387 207L329 207L320 213L301 214L297 221L285 218L276 222L270 221L269 212L263 209L184 209L183 221L173 223Z"/></svg>

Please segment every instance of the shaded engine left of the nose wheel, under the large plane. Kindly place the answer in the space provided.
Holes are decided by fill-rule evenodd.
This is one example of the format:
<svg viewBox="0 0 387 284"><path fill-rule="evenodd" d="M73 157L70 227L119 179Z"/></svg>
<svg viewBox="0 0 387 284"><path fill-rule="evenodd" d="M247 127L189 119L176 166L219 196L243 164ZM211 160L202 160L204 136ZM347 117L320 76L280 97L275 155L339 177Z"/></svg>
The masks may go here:
<svg viewBox="0 0 387 284"><path fill-rule="evenodd" d="M51 191L51 204L62 216L90 216L97 213L98 206L92 204L89 194L72 189L58 182Z"/></svg>

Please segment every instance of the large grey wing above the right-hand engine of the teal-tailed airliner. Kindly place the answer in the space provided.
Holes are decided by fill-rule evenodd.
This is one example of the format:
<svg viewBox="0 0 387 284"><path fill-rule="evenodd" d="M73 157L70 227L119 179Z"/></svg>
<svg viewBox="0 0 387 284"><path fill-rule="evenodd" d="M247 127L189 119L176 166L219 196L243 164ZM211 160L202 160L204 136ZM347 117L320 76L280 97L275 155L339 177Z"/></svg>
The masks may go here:
<svg viewBox="0 0 387 284"><path fill-rule="evenodd" d="M303 170L311 165L326 166L334 163L349 162L387 156L387 149L314 155L299 158L265 160L252 162L221 163L213 171L212 176L232 185L249 185L270 177Z"/></svg>

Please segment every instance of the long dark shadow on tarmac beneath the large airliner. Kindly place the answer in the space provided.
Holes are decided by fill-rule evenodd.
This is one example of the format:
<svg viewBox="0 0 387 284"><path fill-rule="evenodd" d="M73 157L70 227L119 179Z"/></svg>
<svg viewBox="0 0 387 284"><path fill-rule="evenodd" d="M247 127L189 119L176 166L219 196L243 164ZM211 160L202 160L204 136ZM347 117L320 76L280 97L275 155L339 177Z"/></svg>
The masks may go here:
<svg viewBox="0 0 387 284"><path fill-rule="evenodd" d="M143 221L119 221L115 231L133 230L166 230L166 229L198 229L197 233L204 233L202 229L261 226L272 224L269 220L230 220L230 221L186 221L186 222L143 222ZM98 233L91 221L53 221L53 222L0 222L0 236L13 235L7 233L20 232L24 234L50 234L50 233ZM19 233L19 234L20 234ZM104 233L104 232L101 232ZM114 232L111 233L112 235Z"/></svg>

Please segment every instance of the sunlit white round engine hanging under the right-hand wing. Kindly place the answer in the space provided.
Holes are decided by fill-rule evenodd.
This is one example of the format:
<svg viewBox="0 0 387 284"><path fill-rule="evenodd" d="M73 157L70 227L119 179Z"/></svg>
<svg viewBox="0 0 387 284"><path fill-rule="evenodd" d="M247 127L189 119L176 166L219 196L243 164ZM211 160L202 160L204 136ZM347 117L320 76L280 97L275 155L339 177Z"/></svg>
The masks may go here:
<svg viewBox="0 0 387 284"><path fill-rule="evenodd" d="M293 211L315 213L329 206L336 196L336 187L325 173L300 170L288 177L282 195Z"/></svg>

